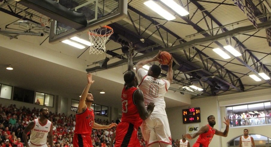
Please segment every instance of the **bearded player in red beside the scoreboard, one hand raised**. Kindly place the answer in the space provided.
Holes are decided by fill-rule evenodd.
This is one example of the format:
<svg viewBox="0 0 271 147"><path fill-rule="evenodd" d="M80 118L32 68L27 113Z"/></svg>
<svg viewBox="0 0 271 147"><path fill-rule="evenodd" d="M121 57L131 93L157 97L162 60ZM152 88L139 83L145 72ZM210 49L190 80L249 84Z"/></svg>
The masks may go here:
<svg viewBox="0 0 271 147"><path fill-rule="evenodd" d="M218 131L217 129L213 128L214 125L216 125L216 118L211 115L208 116L207 118L209 124L201 127L201 129L197 133L194 133L192 136L190 134L186 134L186 137L188 139L193 139L199 135L198 140L193 145L193 147L208 147L214 134L223 137L228 136L230 119L226 119L225 117L224 119L225 119L224 123L226 124L226 129L224 132Z"/></svg>

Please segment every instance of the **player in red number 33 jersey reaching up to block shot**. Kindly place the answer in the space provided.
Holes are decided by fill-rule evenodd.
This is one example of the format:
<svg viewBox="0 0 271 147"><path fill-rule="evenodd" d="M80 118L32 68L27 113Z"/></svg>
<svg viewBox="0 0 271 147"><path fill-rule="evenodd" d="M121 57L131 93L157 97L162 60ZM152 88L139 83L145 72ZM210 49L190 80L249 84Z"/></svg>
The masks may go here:
<svg viewBox="0 0 271 147"><path fill-rule="evenodd" d="M124 88L122 90L122 117L116 130L115 147L139 147L141 146L137 138L138 127L143 120L152 113L154 103L147 106L144 104L144 96L140 89L136 88L138 80L133 72L132 54L135 48L129 44L128 71L124 74ZM143 120L142 120L143 119Z"/></svg>

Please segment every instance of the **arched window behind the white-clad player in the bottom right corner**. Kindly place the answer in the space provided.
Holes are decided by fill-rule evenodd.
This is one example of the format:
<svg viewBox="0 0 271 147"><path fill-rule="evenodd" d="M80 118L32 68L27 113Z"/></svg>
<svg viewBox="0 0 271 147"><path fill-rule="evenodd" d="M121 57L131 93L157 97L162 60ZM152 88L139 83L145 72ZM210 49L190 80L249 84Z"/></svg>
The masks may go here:
<svg viewBox="0 0 271 147"><path fill-rule="evenodd" d="M259 134L249 134L249 136L253 137L255 146L263 146L263 147L271 146L271 139L266 136L259 135ZM239 146L239 143L240 143L240 136L229 141L228 147Z"/></svg>

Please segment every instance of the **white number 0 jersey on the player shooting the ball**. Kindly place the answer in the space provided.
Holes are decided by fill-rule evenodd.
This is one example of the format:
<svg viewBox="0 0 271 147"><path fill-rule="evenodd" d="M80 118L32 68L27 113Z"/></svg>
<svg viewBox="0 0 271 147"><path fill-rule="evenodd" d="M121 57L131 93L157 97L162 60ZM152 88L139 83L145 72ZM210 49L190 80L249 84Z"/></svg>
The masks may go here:
<svg viewBox="0 0 271 147"><path fill-rule="evenodd" d="M155 107L152 114L166 115L164 96L170 85L168 80L148 76L142 68L137 70L137 76L140 82L138 88L143 92L145 106L153 102Z"/></svg>

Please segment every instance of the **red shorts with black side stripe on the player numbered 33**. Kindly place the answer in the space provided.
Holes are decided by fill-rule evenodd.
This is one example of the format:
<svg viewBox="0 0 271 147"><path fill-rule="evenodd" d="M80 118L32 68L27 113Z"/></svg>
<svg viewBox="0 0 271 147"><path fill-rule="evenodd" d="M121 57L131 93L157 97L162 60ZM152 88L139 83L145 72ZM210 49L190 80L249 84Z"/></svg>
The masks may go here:
<svg viewBox="0 0 271 147"><path fill-rule="evenodd" d="M138 126L135 127L129 122L121 122L116 129L115 147L138 147L140 146L137 138Z"/></svg>

